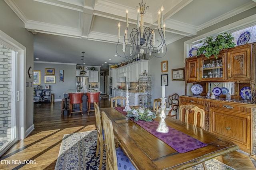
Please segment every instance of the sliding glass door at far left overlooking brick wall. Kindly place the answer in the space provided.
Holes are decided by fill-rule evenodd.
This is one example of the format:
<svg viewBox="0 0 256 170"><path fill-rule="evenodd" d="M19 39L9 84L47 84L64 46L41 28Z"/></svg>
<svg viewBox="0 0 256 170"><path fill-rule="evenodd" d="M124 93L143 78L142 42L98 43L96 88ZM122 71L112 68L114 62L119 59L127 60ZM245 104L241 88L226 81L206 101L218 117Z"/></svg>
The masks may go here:
<svg viewBox="0 0 256 170"><path fill-rule="evenodd" d="M0 153L18 140L16 52L0 44ZM2 154L1 154L2 155Z"/></svg>

